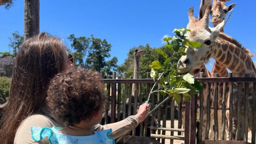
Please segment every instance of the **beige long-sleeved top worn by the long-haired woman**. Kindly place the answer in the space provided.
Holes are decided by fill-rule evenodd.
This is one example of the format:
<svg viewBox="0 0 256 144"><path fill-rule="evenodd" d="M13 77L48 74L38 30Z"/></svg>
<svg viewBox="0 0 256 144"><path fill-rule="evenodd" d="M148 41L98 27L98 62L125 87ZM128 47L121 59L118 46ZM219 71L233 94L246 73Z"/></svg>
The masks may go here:
<svg viewBox="0 0 256 144"><path fill-rule="evenodd" d="M112 129L111 137L118 138L125 134L130 129L137 127L139 124L139 119L136 116L129 116L126 119L110 123L107 125L95 125L92 127L92 131L100 131L105 129ZM17 132L15 134L14 144L33 144L34 140L31 137L30 128L32 126L36 127L63 127L62 124L58 123L53 119L51 112L47 108L41 108L38 112L35 112L19 125ZM44 144L49 144L47 138L43 139Z"/></svg>

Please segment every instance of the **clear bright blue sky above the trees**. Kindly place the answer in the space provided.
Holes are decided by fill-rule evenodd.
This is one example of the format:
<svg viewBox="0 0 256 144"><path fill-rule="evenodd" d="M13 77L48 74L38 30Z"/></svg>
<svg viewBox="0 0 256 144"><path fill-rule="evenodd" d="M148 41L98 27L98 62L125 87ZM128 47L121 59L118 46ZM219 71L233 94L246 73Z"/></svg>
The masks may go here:
<svg viewBox="0 0 256 144"><path fill-rule="evenodd" d="M224 31L256 54L256 0L231 0L226 5L233 3L237 5ZM121 65L133 47L164 45L165 35L173 36L175 28L186 27L189 7L198 16L199 5L200 0L41 0L40 32L63 38L69 48L70 34L106 39L112 45L111 58L117 57ZM23 9L23 0L15 0L9 10L0 6L0 52L9 51L13 32L23 34Z"/></svg>

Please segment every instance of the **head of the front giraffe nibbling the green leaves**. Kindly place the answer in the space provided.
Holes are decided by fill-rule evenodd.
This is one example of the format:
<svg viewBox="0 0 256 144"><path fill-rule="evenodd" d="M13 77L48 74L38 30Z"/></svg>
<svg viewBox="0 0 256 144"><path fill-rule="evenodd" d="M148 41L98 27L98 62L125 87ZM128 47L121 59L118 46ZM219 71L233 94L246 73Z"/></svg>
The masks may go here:
<svg viewBox="0 0 256 144"><path fill-rule="evenodd" d="M209 13L211 11L211 5L207 6L205 15L202 19L197 20L194 17L194 8L190 8L188 11L189 23L187 29L190 32L186 33L186 36L191 41L202 43L201 47L194 49L187 47L186 54L181 56L178 61L177 69L179 73L196 73L195 70L200 69L206 61L211 57L213 40L218 36L220 30L224 26L224 21L214 28L209 27Z"/></svg>

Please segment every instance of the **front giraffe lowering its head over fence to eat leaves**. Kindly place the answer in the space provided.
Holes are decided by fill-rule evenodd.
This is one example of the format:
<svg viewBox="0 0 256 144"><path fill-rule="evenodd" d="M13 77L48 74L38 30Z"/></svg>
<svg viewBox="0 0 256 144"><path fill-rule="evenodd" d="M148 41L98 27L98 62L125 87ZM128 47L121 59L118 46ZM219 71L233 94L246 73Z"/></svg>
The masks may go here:
<svg viewBox="0 0 256 144"><path fill-rule="evenodd" d="M250 77L256 76L256 68L251 59L252 55L245 48L238 47L237 44L233 44L233 39L226 34L220 32L224 26L224 21L218 24L215 28L209 27L209 19L205 18L210 13L211 6L207 6L207 10L203 19L197 21L193 16L193 9L189 10L189 23L187 29L191 32L187 33L187 36L192 41L201 42L202 46L191 49L186 49L187 55L182 56L178 61L178 72L193 72L198 69L199 66L205 64L210 57L213 57L220 64L224 65L231 72L234 77L243 77L245 73ZM205 19L204 19L205 18ZM202 21L204 20L204 21ZM220 37L217 35L220 34ZM195 68L194 68L195 67ZM182 69L182 70L181 70ZM237 83L233 84L233 120L235 125L240 125L240 131L238 132L238 140L243 140L243 134L245 131L244 123L238 123L236 117L237 108ZM240 98L240 97L239 97ZM241 97L241 107L244 107L243 97ZM252 108L252 84L249 84L249 109ZM240 112L241 122L245 121L244 111ZM252 111L249 111L249 115L252 115ZM252 128L252 117L249 117L249 127ZM233 129L236 132L236 129Z"/></svg>

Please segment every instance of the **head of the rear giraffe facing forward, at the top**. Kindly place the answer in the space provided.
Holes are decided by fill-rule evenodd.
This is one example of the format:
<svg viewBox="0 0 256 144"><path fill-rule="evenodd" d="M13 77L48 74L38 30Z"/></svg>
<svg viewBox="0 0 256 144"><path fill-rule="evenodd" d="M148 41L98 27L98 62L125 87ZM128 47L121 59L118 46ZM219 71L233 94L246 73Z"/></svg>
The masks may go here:
<svg viewBox="0 0 256 144"><path fill-rule="evenodd" d="M213 0L213 6L211 8L211 22L214 26L221 23L226 14L233 10L236 4L225 5L225 2L229 0Z"/></svg>

